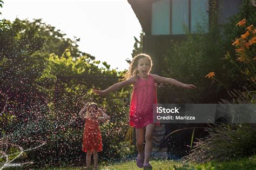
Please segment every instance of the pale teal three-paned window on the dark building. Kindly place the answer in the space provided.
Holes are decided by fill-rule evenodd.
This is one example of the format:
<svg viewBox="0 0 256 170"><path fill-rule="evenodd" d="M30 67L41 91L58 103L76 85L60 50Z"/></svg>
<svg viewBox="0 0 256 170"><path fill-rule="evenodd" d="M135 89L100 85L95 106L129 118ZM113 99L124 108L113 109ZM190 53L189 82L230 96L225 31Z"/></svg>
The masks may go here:
<svg viewBox="0 0 256 170"><path fill-rule="evenodd" d="M208 31L208 0L161 0L152 3L152 35L183 35L184 25L197 33Z"/></svg>

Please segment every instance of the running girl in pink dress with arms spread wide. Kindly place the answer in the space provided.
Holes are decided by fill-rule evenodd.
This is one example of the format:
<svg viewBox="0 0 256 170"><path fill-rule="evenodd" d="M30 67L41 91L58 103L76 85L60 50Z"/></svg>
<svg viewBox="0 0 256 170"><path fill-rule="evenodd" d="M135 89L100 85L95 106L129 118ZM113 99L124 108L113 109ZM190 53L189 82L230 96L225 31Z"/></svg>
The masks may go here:
<svg viewBox="0 0 256 170"><path fill-rule="evenodd" d="M133 58L130 69L126 73L125 81L116 83L109 89L93 90L98 94L107 94L124 86L133 85L133 93L130 105L130 126L136 128L136 146L138 149L137 166L139 168L152 168L149 164L153 145L153 131L156 124L153 123L153 104L157 104L155 83L167 83L185 89L195 89L192 84L183 84L179 81L150 74L152 60L149 55L140 54ZM145 151L143 143L145 142Z"/></svg>

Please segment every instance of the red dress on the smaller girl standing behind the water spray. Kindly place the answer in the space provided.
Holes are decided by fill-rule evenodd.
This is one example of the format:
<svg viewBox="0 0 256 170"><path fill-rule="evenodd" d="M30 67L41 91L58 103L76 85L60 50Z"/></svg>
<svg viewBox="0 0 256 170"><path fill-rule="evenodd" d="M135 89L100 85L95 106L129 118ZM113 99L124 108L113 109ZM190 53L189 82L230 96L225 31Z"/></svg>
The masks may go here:
<svg viewBox="0 0 256 170"><path fill-rule="evenodd" d="M96 118L86 118L82 151L102 151L102 135Z"/></svg>

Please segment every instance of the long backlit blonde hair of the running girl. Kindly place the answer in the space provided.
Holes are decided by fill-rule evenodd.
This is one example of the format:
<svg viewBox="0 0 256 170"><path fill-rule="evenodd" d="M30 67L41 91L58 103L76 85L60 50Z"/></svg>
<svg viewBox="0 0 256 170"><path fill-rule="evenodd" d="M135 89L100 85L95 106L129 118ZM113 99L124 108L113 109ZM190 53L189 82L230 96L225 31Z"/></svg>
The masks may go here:
<svg viewBox="0 0 256 170"><path fill-rule="evenodd" d="M137 76L138 71L136 70L136 67L138 66L138 62L139 62L140 58L149 59L149 61L150 61L150 71L151 71L151 68L153 66L151 57L149 55L145 54L145 53L140 53L139 55L135 56L132 59L132 62L130 63L129 70L126 72L124 79L129 79L131 77L136 77Z"/></svg>

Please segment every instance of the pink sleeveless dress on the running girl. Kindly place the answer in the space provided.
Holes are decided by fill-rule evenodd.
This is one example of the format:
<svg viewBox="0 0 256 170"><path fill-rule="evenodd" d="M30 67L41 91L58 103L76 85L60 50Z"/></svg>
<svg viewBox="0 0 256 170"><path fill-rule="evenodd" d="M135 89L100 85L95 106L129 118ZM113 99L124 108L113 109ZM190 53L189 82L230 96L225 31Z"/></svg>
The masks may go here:
<svg viewBox="0 0 256 170"><path fill-rule="evenodd" d="M147 79L137 76L130 106L130 126L143 128L148 124L153 124L153 104L157 104L157 91L153 76L149 74Z"/></svg>

